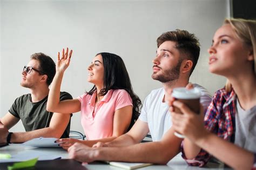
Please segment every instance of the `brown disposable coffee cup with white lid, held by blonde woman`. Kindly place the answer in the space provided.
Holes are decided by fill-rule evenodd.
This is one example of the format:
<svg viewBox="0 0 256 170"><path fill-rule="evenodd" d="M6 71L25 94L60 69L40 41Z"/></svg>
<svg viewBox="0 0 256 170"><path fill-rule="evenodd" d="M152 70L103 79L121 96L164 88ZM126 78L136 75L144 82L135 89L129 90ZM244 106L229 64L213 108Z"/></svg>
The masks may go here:
<svg viewBox="0 0 256 170"><path fill-rule="evenodd" d="M178 100L184 104L187 105L187 107L190 108L195 113L200 112L200 97L201 97L201 91L197 87L188 90L185 87L178 87L174 88L172 91L172 97L175 98L175 100ZM174 112L181 113L177 107L173 107ZM177 132L174 132L174 135L176 135L179 138L185 138L184 135L179 134Z"/></svg>

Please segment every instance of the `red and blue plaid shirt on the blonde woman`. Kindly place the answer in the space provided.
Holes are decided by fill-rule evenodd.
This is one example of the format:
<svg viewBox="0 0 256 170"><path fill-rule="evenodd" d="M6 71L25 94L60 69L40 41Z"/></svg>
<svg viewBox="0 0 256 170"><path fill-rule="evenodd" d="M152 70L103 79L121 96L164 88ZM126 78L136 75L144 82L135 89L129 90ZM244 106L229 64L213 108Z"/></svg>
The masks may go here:
<svg viewBox="0 0 256 170"><path fill-rule="evenodd" d="M226 92L220 89L215 92L211 104L205 113L205 127L208 131L215 133L218 137L234 143L235 135L235 110L236 110L236 94L232 90ZM192 160L186 159L183 142L181 143L182 157L191 166L204 166L210 159L211 155L201 149L196 158ZM254 154L254 166L256 167L256 154Z"/></svg>

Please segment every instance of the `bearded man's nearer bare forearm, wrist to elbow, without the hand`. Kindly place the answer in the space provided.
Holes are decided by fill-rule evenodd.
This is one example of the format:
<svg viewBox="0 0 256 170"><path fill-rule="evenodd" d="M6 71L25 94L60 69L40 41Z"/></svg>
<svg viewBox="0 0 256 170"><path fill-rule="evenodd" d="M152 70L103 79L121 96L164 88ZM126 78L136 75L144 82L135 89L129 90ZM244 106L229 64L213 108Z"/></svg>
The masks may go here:
<svg viewBox="0 0 256 170"><path fill-rule="evenodd" d="M98 151L97 160L167 164L179 153L180 147L168 146L163 142L147 142L124 147L102 147Z"/></svg>

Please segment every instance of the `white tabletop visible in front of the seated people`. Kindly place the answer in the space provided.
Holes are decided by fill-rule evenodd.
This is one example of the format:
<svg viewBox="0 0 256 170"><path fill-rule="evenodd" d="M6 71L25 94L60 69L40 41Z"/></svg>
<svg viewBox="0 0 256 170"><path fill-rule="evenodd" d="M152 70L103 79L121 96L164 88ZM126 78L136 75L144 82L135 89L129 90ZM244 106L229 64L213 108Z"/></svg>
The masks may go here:
<svg viewBox="0 0 256 170"><path fill-rule="evenodd" d="M21 144L11 144L9 146L1 147L0 153L9 153L11 155L19 154L19 153L26 153L26 152L41 152L43 154L49 155L61 155L62 159L68 159L68 152L66 152L62 148L33 148L33 147L26 147ZM87 169L122 169L110 165L106 165L99 162L93 162L87 165L84 165ZM191 167L186 164L186 162L181 158L181 154L178 154L174 157L167 165L152 165L147 166L139 169L224 169L223 164L214 164L208 163L207 166L203 168L199 167Z"/></svg>

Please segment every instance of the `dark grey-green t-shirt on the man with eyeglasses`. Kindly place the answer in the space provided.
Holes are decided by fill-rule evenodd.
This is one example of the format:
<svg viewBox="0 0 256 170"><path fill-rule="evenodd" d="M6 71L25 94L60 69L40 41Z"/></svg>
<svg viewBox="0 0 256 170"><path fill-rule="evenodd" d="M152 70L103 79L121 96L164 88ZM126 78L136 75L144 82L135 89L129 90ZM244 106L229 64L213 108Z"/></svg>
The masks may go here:
<svg viewBox="0 0 256 170"><path fill-rule="evenodd" d="M68 100L72 99L72 96L67 92L60 92L59 99L60 101ZM53 113L46 111L47 100L48 96L46 96L43 100L38 101L37 103L32 103L31 94L24 94L15 100L9 112L16 118L22 120L22 124L26 132L49 127ZM61 138L69 138L69 131L70 120Z"/></svg>

